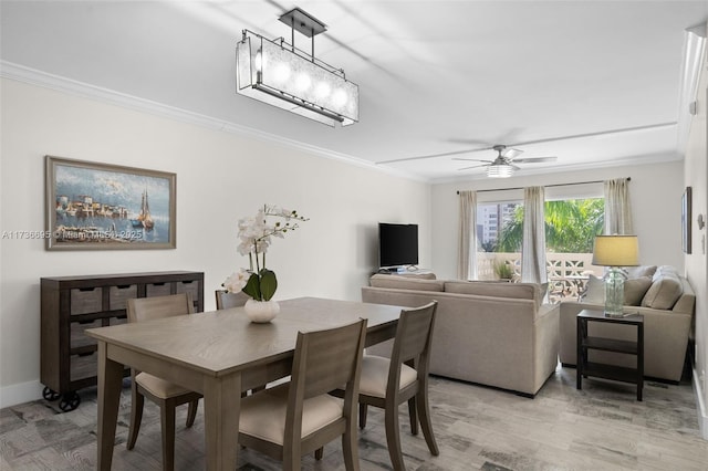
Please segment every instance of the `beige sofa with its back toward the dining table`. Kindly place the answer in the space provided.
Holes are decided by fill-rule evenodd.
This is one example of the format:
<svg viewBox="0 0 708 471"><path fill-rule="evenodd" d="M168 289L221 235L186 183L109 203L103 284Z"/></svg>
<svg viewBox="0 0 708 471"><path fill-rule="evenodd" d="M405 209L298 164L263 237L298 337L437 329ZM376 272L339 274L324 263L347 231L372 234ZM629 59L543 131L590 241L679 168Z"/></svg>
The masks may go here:
<svg viewBox="0 0 708 471"><path fill-rule="evenodd" d="M559 307L542 303L544 289L375 274L362 301L415 307L437 300L430 373L533 397L558 365Z"/></svg>

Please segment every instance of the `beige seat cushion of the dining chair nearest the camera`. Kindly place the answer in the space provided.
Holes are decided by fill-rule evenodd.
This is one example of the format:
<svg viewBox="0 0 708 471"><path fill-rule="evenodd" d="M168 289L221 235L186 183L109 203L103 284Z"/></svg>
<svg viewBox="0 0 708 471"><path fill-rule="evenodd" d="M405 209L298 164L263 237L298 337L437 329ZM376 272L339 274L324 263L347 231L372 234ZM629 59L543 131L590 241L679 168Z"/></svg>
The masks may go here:
<svg viewBox="0 0 708 471"><path fill-rule="evenodd" d="M289 384L264 389L241 399L239 431L283 444ZM302 409L302 437L342 418L344 401L329 394L305 399Z"/></svg>

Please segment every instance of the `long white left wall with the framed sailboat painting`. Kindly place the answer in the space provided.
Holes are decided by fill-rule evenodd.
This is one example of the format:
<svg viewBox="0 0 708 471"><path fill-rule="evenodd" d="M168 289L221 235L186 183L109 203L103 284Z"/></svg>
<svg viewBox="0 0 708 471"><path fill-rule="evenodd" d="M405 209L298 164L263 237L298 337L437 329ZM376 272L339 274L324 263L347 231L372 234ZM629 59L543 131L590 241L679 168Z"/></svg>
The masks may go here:
<svg viewBox="0 0 708 471"><path fill-rule="evenodd" d="M44 229L49 154L177 174L177 249L50 252L41 240L2 239L0 407L40 396L40 278L204 271L211 310L214 290L247 263L236 222L262 203L310 218L269 251L277 299L358 300L377 265L379 220L419 223L420 264L430 265L426 184L12 80L1 92L0 233Z"/></svg>

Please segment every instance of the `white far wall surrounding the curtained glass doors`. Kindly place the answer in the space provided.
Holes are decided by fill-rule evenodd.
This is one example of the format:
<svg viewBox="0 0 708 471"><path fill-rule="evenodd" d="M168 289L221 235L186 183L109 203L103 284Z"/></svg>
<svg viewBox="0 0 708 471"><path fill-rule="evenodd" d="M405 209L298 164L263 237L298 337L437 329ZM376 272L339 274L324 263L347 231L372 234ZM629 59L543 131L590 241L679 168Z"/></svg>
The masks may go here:
<svg viewBox="0 0 708 471"><path fill-rule="evenodd" d="M433 187L431 205L434 269L441 278L457 276L458 190L576 184L623 177L632 178L629 198L634 229L639 238L639 262L674 265L683 271L680 228L680 202L684 192L683 161L436 185ZM566 188L568 191L573 189L573 187ZM580 190L581 187L577 189ZM523 192L519 195L519 199L523 199Z"/></svg>

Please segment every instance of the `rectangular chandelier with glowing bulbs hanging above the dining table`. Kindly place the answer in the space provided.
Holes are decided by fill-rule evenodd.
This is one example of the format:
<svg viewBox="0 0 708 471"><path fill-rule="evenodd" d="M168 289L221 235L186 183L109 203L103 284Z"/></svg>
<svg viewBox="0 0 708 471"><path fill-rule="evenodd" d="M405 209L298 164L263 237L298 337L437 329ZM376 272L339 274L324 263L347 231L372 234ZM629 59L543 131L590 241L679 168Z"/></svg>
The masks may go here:
<svg viewBox="0 0 708 471"><path fill-rule="evenodd" d="M280 21L291 27L292 44L243 30L236 46L236 92L329 126L357 123L358 85L314 56L314 36L326 30L324 23L299 8ZM294 46L295 30L312 39L311 54Z"/></svg>

